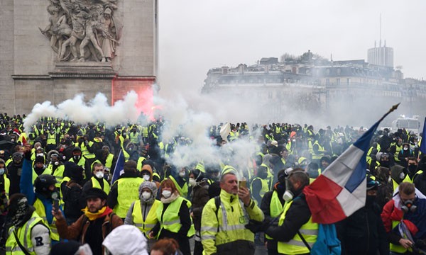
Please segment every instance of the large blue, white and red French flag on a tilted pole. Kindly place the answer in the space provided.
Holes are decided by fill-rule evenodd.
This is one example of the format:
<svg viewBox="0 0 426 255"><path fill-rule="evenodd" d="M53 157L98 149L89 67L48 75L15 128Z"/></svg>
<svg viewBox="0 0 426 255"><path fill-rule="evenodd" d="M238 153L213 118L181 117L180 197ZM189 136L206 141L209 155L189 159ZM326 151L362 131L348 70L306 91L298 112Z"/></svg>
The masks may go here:
<svg viewBox="0 0 426 255"><path fill-rule="evenodd" d="M303 190L312 212L312 222L332 224L344 220L366 203L366 154L381 120L395 105L324 172Z"/></svg>

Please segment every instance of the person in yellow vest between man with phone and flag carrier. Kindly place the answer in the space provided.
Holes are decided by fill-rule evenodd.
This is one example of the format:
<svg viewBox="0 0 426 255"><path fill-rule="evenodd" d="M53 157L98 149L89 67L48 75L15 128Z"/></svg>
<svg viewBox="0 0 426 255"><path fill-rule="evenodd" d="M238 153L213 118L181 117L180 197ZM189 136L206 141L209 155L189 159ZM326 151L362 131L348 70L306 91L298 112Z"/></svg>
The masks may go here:
<svg viewBox="0 0 426 255"><path fill-rule="evenodd" d="M265 220L271 222L274 218L278 217L284 210L285 200L283 195L285 192L285 169L278 171L278 181L273 186L272 191L268 191L262 198L261 210L265 215ZM273 225L278 226L278 220L275 220ZM278 242L265 235L266 249L268 255L278 254Z"/></svg>

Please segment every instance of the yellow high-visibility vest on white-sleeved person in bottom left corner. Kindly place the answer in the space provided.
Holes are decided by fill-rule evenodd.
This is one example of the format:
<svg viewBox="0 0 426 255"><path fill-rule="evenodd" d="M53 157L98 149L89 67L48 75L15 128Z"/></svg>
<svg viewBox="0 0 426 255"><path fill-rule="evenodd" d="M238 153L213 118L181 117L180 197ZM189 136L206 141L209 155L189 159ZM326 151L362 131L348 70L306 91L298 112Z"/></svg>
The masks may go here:
<svg viewBox="0 0 426 255"><path fill-rule="evenodd" d="M31 255L35 254L33 242L31 240L31 231L33 230L33 227L37 224L42 224L43 219L38 216L37 212L33 212L31 215L31 218L25 223L25 225L22 225L21 227L12 226L9 229L9 237L6 240L6 254L13 254L13 255L25 255L26 253L22 251L21 247L19 246L18 242L16 241L16 237L18 237L19 242L21 245L27 250L27 252ZM16 232L16 237L13 232Z"/></svg>

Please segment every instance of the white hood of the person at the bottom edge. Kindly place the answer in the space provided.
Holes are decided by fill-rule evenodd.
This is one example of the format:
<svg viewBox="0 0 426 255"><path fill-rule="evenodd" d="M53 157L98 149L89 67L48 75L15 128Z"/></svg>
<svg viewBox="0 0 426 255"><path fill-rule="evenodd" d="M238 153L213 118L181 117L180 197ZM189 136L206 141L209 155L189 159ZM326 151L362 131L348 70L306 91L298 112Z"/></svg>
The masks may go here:
<svg viewBox="0 0 426 255"><path fill-rule="evenodd" d="M116 227L105 237L102 244L114 255L148 255L146 238L133 225Z"/></svg>

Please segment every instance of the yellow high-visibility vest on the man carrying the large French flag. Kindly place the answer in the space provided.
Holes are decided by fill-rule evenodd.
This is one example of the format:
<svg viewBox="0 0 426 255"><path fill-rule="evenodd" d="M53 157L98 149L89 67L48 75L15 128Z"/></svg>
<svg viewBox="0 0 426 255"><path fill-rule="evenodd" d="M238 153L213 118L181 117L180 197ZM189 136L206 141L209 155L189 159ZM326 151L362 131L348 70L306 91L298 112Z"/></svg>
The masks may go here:
<svg viewBox="0 0 426 255"><path fill-rule="evenodd" d="M285 214L287 213L290 206L293 204L293 200L285 204L284 212L278 221L278 226L283 225L285 220ZM299 229L300 234L305 239L307 244L311 247L317 241L318 236L318 224L312 222L312 216L309 220L302 225ZM300 238L299 234L295 234L293 239L288 242L278 242L278 253L280 254L309 254L310 250Z"/></svg>

